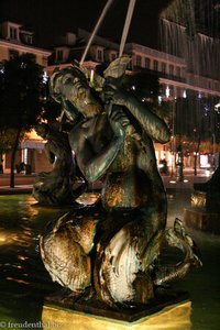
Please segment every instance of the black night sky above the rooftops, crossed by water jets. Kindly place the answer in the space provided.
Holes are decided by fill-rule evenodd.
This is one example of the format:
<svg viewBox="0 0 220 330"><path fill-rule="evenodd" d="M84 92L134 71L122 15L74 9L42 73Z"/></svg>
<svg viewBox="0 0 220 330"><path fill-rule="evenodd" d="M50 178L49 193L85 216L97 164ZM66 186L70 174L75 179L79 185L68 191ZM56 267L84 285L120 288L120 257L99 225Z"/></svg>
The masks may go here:
<svg viewBox="0 0 220 330"><path fill-rule="evenodd" d="M147 46L157 43L157 15L170 1L136 0L128 41ZM57 34L77 28L92 32L107 0L0 0L0 19L28 25L46 47ZM99 35L120 42L129 0L114 0Z"/></svg>

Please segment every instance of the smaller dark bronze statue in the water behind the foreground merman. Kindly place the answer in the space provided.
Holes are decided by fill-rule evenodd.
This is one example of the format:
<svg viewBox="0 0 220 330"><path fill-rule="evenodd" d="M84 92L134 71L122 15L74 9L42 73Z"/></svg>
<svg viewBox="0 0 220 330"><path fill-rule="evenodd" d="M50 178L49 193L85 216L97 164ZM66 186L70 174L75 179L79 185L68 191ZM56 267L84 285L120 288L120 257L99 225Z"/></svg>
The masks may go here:
<svg viewBox="0 0 220 330"><path fill-rule="evenodd" d="M82 187L74 190L76 163L68 142L68 135L46 123L36 125L36 133L47 140L44 152L53 164L52 172L40 173L33 185L33 196L41 205L73 205Z"/></svg>

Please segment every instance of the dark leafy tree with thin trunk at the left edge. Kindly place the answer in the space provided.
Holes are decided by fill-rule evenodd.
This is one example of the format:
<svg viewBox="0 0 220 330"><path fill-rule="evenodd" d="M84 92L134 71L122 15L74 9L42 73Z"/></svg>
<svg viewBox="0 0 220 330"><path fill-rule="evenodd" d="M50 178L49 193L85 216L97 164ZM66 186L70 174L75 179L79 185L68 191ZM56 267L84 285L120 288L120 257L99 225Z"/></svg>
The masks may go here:
<svg viewBox="0 0 220 330"><path fill-rule="evenodd" d="M0 130L12 130L10 186L14 187L14 162L19 142L30 131L43 111L43 67L32 54L23 54L0 66Z"/></svg>

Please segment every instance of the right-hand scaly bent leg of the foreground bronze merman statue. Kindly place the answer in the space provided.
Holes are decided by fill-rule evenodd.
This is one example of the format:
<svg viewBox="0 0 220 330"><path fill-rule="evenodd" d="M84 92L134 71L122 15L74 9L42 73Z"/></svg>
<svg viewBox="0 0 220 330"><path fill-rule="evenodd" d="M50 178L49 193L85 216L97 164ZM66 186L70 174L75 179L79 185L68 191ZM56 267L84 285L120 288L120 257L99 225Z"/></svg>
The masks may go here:
<svg viewBox="0 0 220 330"><path fill-rule="evenodd" d="M151 264L160 253L163 230L154 228L146 215L131 212L130 221L98 245L95 283L101 299L111 306L136 306L154 297Z"/></svg>

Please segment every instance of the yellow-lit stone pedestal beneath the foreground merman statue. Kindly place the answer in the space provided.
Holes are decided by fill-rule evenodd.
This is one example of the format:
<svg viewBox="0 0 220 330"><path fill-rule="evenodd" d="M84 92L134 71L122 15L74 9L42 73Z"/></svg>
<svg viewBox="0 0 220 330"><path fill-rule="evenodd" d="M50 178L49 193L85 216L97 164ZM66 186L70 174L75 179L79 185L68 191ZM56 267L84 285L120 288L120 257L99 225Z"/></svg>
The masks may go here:
<svg viewBox="0 0 220 330"><path fill-rule="evenodd" d="M151 316L142 317L133 322L128 322L105 316L89 315L62 307L45 305L42 311L42 324L43 329L50 328L53 330L189 330L191 328L190 311L191 302L187 300L166 306ZM130 312L132 315L132 309Z"/></svg>

